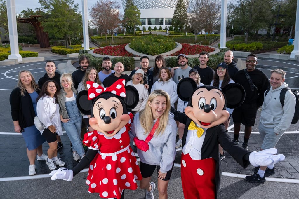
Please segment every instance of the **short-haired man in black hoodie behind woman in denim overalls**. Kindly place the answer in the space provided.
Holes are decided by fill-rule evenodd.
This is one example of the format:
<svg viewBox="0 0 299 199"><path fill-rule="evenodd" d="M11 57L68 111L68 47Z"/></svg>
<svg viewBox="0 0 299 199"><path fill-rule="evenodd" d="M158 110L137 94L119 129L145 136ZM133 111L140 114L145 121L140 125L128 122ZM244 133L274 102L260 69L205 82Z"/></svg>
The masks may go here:
<svg viewBox="0 0 299 199"><path fill-rule="evenodd" d="M60 87L60 74L57 73L57 72L55 72L56 71L55 62L52 61L52 60L48 60L46 62L45 70L46 70L45 75L38 80L38 86L39 86L39 88L41 89L42 85L46 81L53 80L53 81L55 81L58 84L59 88L57 88L57 90L60 90L61 89L61 87Z"/></svg>

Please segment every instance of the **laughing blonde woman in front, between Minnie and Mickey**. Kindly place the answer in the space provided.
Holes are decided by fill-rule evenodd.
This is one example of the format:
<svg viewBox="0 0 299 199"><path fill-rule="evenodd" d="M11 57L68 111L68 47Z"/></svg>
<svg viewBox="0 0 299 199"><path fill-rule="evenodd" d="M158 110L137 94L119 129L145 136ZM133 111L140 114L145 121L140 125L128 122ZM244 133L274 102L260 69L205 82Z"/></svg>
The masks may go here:
<svg viewBox="0 0 299 199"><path fill-rule="evenodd" d="M156 122L157 128L149 141L149 150L141 151L140 171L142 180L140 188L146 189L145 198L154 198L155 183L150 182L156 167L158 172L159 198L167 198L167 186L176 156L176 122L170 111L170 97L163 90L153 91L144 110L136 113L132 125L132 137L145 140Z"/></svg>

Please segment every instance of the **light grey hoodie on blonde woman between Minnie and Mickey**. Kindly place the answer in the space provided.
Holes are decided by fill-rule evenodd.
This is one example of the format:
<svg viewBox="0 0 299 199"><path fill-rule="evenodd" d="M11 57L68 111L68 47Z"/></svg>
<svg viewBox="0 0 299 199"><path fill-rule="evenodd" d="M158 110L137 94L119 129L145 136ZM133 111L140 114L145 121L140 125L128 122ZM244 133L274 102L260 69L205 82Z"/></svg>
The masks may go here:
<svg viewBox="0 0 299 199"><path fill-rule="evenodd" d="M172 168L176 157L176 121L173 117L174 115L169 112L168 125L165 131L158 136L154 134L148 143L149 150L141 151L137 148L141 162L150 165L159 165L162 173L167 173ZM156 120L154 120L155 122ZM144 134L144 132L145 130L140 124L139 113L136 113L130 136L136 136L139 140L145 140L148 134Z"/></svg>

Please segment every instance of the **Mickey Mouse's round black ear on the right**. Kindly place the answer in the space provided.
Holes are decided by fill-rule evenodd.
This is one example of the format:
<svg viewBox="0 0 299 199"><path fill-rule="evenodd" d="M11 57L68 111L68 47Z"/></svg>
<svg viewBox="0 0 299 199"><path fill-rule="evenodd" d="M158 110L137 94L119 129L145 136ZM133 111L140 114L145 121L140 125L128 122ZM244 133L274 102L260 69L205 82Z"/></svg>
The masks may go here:
<svg viewBox="0 0 299 199"><path fill-rule="evenodd" d="M231 83L221 90L226 97L227 108L237 108L244 102L245 90L240 84Z"/></svg>

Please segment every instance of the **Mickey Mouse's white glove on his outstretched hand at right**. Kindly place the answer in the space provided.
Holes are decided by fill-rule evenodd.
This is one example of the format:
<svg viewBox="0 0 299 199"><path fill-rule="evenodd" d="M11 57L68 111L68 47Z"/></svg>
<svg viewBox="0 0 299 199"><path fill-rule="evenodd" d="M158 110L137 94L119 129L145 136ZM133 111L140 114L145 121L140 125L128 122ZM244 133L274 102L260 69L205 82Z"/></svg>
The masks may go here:
<svg viewBox="0 0 299 199"><path fill-rule="evenodd" d="M265 149L259 152L251 152L249 155L249 161L253 166L269 166L270 164L276 164L279 161L284 160L286 157L283 154L277 154L277 149Z"/></svg>

